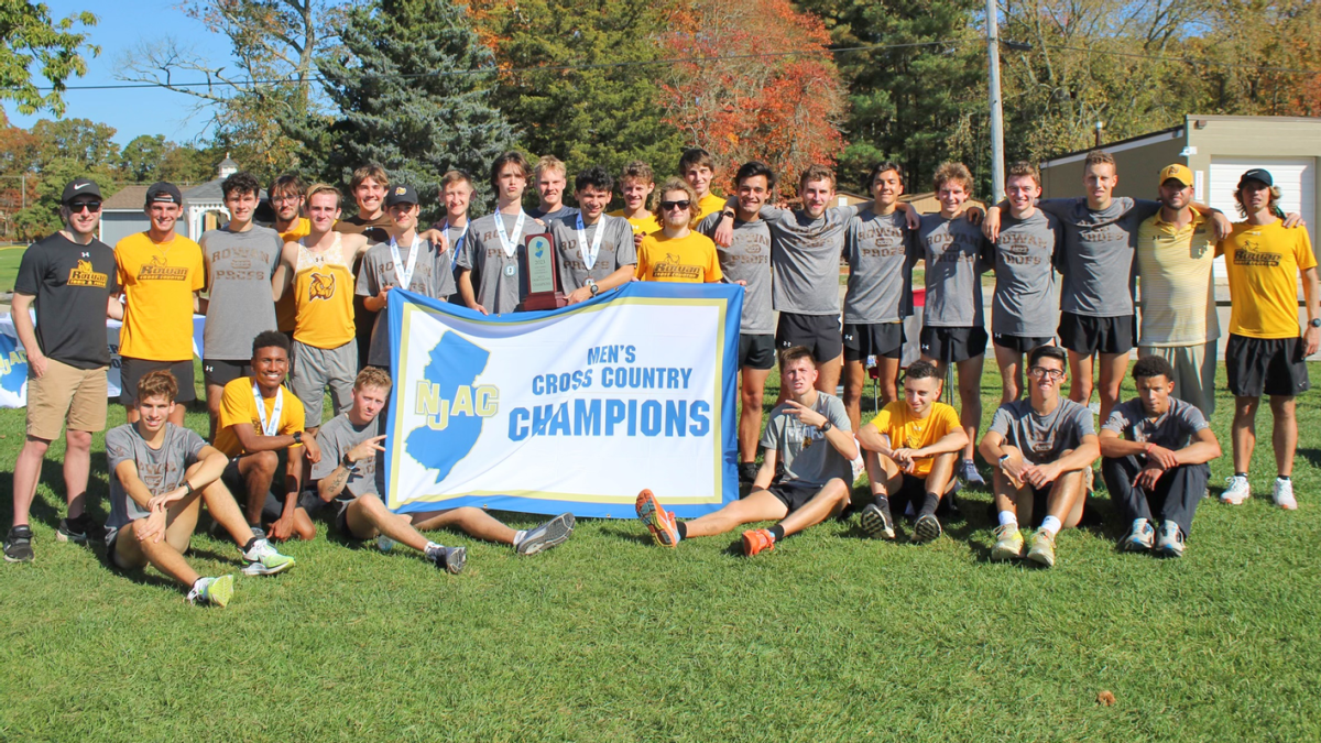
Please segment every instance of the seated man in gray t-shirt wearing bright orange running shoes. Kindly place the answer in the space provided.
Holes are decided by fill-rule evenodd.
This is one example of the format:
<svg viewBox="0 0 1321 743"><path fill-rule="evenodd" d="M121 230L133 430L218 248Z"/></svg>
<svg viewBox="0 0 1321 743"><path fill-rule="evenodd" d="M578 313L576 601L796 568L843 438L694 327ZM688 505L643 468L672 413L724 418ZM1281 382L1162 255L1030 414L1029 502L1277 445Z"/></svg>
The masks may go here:
<svg viewBox="0 0 1321 743"><path fill-rule="evenodd" d="M753 521L779 520L770 529L742 533L745 555L775 549L775 542L838 516L848 505L857 444L848 430L844 403L818 391L812 352L793 346L779 353L779 377L789 398L770 411L761 436L765 461L752 492L723 509L692 521L675 521L651 490L638 493L638 518L662 547L676 547L687 537L724 534ZM783 463L779 483L775 464Z"/></svg>

